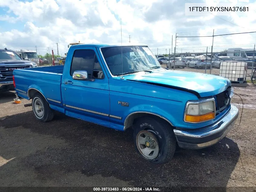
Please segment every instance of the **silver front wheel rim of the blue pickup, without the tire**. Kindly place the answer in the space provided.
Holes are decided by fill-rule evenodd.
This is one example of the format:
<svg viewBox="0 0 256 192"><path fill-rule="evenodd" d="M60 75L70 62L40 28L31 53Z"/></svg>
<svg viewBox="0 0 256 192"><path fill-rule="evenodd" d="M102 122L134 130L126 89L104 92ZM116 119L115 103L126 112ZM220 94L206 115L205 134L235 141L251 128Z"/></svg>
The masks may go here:
<svg viewBox="0 0 256 192"><path fill-rule="evenodd" d="M141 155L145 158L152 160L158 156L159 144L153 131L140 131L137 134L136 144Z"/></svg>

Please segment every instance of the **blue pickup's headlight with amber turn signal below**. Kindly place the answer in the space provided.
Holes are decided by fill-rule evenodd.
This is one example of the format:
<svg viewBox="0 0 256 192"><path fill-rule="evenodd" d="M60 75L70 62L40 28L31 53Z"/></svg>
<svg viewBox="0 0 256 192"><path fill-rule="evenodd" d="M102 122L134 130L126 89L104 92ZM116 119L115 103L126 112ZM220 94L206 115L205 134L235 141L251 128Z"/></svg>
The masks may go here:
<svg viewBox="0 0 256 192"><path fill-rule="evenodd" d="M214 98L202 101L188 101L186 104L184 121L188 123L201 123L215 118Z"/></svg>

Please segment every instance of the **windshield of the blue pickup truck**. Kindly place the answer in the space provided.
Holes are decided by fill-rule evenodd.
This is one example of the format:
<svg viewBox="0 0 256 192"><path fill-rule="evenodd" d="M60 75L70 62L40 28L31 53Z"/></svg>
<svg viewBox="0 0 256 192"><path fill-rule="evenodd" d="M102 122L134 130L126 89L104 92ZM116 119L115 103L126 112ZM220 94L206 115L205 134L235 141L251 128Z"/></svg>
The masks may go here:
<svg viewBox="0 0 256 192"><path fill-rule="evenodd" d="M101 52L113 76L161 67L147 46L104 47Z"/></svg>

